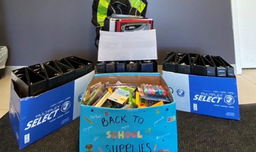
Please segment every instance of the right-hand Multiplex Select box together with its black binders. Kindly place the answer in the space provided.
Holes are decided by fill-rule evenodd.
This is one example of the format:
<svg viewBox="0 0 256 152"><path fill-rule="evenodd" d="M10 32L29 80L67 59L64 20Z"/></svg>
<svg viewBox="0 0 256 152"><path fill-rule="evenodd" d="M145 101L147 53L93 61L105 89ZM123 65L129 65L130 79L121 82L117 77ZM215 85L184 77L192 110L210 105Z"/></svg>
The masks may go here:
<svg viewBox="0 0 256 152"><path fill-rule="evenodd" d="M220 56L167 52L163 77L177 110L240 119L234 68Z"/></svg>

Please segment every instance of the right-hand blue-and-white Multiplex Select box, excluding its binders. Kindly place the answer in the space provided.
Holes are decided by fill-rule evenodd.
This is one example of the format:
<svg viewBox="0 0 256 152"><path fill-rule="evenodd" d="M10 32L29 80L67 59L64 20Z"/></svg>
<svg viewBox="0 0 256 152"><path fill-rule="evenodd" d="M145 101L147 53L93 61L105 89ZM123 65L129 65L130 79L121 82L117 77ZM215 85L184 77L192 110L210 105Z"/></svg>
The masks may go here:
<svg viewBox="0 0 256 152"><path fill-rule="evenodd" d="M163 71L176 109L239 120L236 78L194 76Z"/></svg>

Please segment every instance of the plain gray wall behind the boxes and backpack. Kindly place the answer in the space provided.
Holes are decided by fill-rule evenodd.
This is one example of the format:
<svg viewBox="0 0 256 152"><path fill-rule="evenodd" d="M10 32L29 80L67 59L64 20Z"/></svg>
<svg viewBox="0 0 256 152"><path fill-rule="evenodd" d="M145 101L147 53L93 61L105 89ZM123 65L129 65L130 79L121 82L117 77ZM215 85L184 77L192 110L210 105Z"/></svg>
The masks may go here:
<svg viewBox="0 0 256 152"><path fill-rule="evenodd" d="M235 63L230 0L148 0L157 31L158 63L166 51L220 55ZM7 65L70 55L96 62L92 0L1 0L0 45Z"/></svg>

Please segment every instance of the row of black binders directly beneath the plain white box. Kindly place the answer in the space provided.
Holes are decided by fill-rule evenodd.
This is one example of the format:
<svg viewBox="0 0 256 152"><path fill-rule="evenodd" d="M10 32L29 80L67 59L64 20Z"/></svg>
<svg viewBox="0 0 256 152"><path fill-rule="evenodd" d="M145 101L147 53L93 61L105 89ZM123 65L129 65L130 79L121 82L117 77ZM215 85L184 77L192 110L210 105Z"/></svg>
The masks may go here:
<svg viewBox="0 0 256 152"><path fill-rule="evenodd" d="M99 61L97 73L157 72L155 60Z"/></svg>

